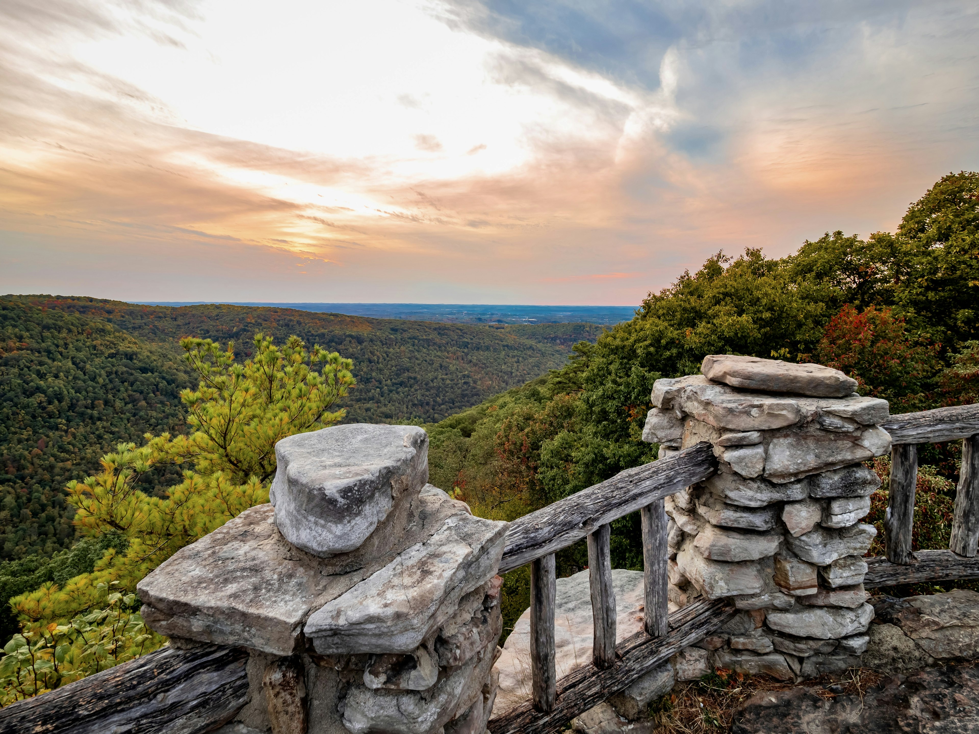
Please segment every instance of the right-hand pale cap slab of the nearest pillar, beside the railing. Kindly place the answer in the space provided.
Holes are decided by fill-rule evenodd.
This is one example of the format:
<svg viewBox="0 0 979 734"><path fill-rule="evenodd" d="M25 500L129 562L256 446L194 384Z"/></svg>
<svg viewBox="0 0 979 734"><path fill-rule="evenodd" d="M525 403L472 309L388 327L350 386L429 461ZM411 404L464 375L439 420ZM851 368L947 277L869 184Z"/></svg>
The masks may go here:
<svg viewBox="0 0 979 734"><path fill-rule="evenodd" d="M505 534L505 524L455 516L313 612L303 632L322 655L414 650L495 575Z"/></svg>

